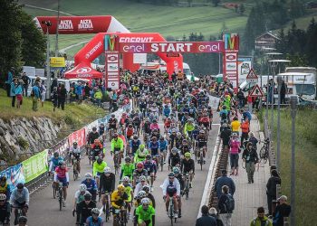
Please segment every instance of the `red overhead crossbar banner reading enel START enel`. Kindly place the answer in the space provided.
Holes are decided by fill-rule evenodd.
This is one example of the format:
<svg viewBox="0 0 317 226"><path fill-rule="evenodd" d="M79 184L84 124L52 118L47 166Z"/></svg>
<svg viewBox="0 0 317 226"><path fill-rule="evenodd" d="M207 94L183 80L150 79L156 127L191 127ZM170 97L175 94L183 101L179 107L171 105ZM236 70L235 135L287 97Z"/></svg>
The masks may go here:
<svg viewBox="0 0 317 226"><path fill-rule="evenodd" d="M120 52L223 52L224 42L120 42Z"/></svg>

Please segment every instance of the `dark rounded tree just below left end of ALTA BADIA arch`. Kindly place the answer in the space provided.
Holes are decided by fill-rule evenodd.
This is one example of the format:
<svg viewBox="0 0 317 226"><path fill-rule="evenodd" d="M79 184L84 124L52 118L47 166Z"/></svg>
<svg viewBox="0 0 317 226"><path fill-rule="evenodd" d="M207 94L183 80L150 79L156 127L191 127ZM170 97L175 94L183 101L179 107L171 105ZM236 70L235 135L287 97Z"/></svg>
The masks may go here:
<svg viewBox="0 0 317 226"><path fill-rule="evenodd" d="M30 15L22 12L21 20L22 61L24 61L24 65L43 67L46 50L43 33L37 29Z"/></svg>

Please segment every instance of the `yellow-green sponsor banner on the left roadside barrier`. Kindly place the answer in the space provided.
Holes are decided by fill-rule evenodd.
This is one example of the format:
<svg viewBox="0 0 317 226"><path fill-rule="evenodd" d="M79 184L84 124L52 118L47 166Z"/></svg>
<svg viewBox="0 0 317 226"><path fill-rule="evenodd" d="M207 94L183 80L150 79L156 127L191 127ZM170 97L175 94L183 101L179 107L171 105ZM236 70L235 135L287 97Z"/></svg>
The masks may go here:
<svg viewBox="0 0 317 226"><path fill-rule="evenodd" d="M47 150L44 150L22 162L25 183L34 180L36 177L47 171L47 156Z"/></svg>

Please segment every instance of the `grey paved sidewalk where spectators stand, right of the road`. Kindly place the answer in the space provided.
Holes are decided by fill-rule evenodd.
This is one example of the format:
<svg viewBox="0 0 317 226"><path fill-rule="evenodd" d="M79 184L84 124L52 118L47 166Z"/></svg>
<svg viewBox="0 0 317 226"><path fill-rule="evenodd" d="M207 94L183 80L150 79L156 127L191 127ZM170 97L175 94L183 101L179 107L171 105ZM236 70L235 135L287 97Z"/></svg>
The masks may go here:
<svg viewBox="0 0 317 226"><path fill-rule="evenodd" d="M260 132L260 124L255 115L252 115L250 130L255 133L258 140L264 140L263 132ZM261 138L260 138L261 137ZM257 146L259 151L262 144ZM242 167L242 154L239 156L239 174L238 176L231 176L235 181L235 211L232 215L232 226L246 226L250 225L250 221L254 219L256 209L260 206L265 208L267 212L266 201L266 183L270 178L270 166L267 162L265 165L260 164L259 170L255 166L255 183L247 183L247 174ZM230 164L228 165L230 168ZM230 172L230 170L228 170Z"/></svg>

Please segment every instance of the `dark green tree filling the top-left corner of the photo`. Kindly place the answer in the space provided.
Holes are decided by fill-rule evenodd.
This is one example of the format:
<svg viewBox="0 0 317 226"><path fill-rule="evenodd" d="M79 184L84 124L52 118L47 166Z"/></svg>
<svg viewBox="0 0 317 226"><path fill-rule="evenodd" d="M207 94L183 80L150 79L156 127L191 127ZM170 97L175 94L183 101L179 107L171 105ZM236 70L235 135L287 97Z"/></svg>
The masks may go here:
<svg viewBox="0 0 317 226"><path fill-rule="evenodd" d="M12 0L0 0L0 74L21 66L21 6ZM1 80L3 80L2 78Z"/></svg>

